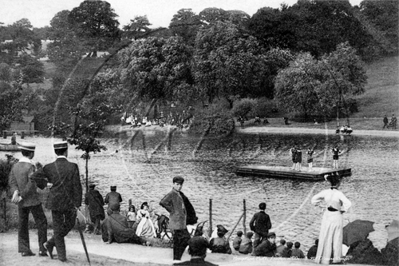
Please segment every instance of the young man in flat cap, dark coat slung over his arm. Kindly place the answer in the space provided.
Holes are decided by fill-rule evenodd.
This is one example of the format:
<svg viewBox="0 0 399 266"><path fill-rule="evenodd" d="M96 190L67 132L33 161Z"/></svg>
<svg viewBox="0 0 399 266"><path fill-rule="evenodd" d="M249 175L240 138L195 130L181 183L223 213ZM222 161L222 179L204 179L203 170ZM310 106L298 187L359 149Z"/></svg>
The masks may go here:
<svg viewBox="0 0 399 266"><path fill-rule="evenodd" d="M173 178L173 189L159 203L169 213L169 228L173 232L173 260L180 260L188 245L187 224L195 224L197 216L188 198L181 192L184 178Z"/></svg>

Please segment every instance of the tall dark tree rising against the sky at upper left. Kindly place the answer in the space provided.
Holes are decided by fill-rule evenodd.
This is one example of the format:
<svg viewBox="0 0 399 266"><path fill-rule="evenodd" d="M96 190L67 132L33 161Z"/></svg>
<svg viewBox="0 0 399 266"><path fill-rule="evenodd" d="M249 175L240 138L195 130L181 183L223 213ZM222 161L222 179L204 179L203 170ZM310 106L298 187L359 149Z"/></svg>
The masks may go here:
<svg viewBox="0 0 399 266"><path fill-rule="evenodd" d="M119 40L117 16L108 2L85 0L79 7L72 9L68 22L91 52L89 55L96 57L97 51L106 50Z"/></svg>

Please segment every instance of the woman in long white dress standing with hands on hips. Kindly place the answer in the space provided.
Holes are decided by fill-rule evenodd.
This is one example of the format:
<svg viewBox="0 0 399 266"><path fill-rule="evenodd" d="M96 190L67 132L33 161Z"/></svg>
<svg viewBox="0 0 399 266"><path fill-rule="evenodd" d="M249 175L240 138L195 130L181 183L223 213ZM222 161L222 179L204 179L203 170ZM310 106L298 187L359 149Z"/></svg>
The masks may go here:
<svg viewBox="0 0 399 266"><path fill-rule="evenodd" d="M343 217L351 207L351 202L338 190L340 177L330 175L331 188L313 196L314 205L325 202L326 207L321 222L316 262L322 264L342 264Z"/></svg>

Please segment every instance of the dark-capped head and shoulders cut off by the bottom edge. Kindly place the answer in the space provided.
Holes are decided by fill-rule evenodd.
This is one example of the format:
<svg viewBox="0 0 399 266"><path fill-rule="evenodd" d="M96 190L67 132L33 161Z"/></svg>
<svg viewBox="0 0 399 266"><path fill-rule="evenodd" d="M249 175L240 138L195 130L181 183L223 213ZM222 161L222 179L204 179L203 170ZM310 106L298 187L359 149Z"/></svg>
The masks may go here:
<svg viewBox="0 0 399 266"><path fill-rule="evenodd" d="M188 241L188 254L191 255L190 261L174 263L173 265L180 266L197 266L197 265L208 265L218 266L216 264L205 261L206 250L209 248L208 241L201 236L194 236Z"/></svg>

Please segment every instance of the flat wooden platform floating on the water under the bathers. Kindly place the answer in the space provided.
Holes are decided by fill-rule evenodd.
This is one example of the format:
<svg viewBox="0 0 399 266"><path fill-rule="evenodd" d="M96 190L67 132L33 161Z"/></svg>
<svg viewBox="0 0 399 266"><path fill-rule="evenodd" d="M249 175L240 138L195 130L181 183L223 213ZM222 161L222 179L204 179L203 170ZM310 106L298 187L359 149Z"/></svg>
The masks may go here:
<svg viewBox="0 0 399 266"><path fill-rule="evenodd" d="M266 166L266 165L247 165L239 167L236 171L238 175L257 175L263 177L274 177L284 179L297 179L305 181L322 181L324 175L337 173L341 177L350 176L352 174L350 168L323 168L313 167L312 171L308 171L308 167L302 167L301 171L292 170L291 167L284 166Z"/></svg>

